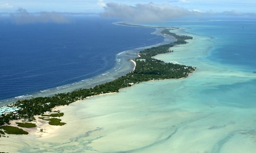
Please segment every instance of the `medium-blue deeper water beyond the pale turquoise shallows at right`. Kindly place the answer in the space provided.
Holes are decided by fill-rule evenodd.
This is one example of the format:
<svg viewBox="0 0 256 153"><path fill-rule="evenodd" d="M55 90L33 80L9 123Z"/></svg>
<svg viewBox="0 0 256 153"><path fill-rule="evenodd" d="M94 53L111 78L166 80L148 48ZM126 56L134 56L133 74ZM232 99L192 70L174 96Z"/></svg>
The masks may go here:
<svg viewBox="0 0 256 153"><path fill-rule="evenodd" d="M208 58L223 64L237 65L245 70L255 70L254 53L256 21L252 19L214 19L170 21L164 23L148 23L143 25L179 27L186 29L186 33L207 35L210 37L210 52Z"/></svg>

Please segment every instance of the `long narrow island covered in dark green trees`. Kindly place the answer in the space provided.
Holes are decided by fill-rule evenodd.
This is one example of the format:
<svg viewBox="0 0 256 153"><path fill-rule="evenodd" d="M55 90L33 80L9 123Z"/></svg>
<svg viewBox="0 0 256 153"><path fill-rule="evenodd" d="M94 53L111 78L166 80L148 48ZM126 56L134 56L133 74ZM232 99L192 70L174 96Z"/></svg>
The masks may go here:
<svg viewBox="0 0 256 153"><path fill-rule="evenodd" d="M125 76L96 85L90 89L77 89L68 93L55 94L55 96L51 97L18 100L16 103L3 106L2 108L6 107L8 110L13 111L2 110L2 115L0 116L0 137L6 137L5 134L28 134L23 129L9 126L11 120L22 120L22 123L16 123L17 126L32 128L36 127L35 116L40 115L39 118L48 121L48 124L62 126L66 124L62 123L60 119L64 114L60 113L60 111L53 111L52 109L56 106L69 105L90 96L117 93L122 88L139 84L143 81L186 78L189 74L195 72L195 67L165 63L162 60L153 58L157 54L171 53L173 50L170 48L174 45L186 44L188 43L186 42L187 39L193 39L193 37L187 35L171 33L170 28L165 28L161 34L173 36L176 42L140 51L137 53L139 57L130 59L135 63L135 68ZM40 129L40 131L42 132L43 129Z"/></svg>

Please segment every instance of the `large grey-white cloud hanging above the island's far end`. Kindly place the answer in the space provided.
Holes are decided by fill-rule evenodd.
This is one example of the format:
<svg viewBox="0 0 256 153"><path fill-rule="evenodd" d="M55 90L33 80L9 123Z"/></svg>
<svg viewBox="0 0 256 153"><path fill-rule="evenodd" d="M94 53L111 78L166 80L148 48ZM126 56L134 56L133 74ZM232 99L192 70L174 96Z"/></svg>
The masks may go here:
<svg viewBox="0 0 256 153"><path fill-rule="evenodd" d="M155 5L154 3L136 4L136 6L107 3L102 17L117 17L130 22L159 22L167 19L196 16L198 11L189 11L181 7L173 7L168 4Z"/></svg>

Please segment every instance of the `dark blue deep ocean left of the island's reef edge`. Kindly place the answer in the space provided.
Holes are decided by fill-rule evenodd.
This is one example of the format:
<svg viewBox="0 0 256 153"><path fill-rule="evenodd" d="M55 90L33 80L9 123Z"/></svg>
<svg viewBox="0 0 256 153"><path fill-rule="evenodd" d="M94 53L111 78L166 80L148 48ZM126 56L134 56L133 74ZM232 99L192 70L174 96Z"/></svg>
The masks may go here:
<svg viewBox="0 0 256 153"><path fill-rule="evenodd" d="M75 83L109 70L116 54L163 42L153 28L77 17L68 24L0 21L0 100Z"/></svg>

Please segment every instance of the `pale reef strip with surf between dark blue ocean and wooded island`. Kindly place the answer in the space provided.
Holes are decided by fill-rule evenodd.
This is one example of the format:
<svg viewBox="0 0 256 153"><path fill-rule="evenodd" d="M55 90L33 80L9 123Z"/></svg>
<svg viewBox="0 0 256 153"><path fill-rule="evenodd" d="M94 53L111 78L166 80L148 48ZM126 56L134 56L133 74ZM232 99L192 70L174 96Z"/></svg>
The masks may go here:
<svg viewBox="0 0 256 153"><path fill-rule="evenodd" d="M115 23L113 23L113 24L115 24ZM121 25L121 24L115 24L115 25L125 26L125 25ZM126 25L126 26L128 26L128 25ZM152 45L147 45L144 47L121 51L120 53L118 53L116 55L116 57L121 58L121 62L122 62L121 66L117 67L117 63L116 63L114 68L109 69L106 72L103 72L102 74L96 75L95 77L80 80L80 81L77 81L76 83L72 83L72 84L63 84L61 86L56 86L56 87L53 87L50 89L43 89L40 91L36 91L35 93L28 93L28 94L24 94L24 95L17 95L15 97L8 98L8 99L2 99L2 100L0 100L0 107L8 105L8 104L16 103L18 100L30 99L32 97L36 98L36 97L41 97L41 96L53 96L58 93L70 92L70 91L73 91L75 89L80 89L80 88L90 88L90 86L95 86L95 85L98 85L101 83L105 83L106 81L115 80L116 78L121 77L122 75L125 75L126 73L129 73L131 71L131 69L133 69L131 67L127 69L127 65L129 65L129 64L127 64L127 59L137 55L137 52L139 52L140 50L143 50L146 48L151 48L151 47L156 47L156 46L159 46L162 44L166 44L166 43L169 43L169 41L174 41L170 35L168 36L168 35L163 35L160 33L163 28L155 28L155 27L141 27L141 28L154 28L155 31L152 32L151 34L161 35L164 38L163 42L157 43L157 44L152 44ZM107 74L107 75L104 75L104 74ZM105 80L106 77L108 78L107 80Z"/></svg>

